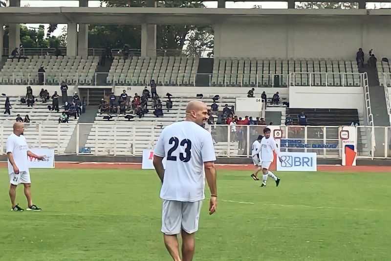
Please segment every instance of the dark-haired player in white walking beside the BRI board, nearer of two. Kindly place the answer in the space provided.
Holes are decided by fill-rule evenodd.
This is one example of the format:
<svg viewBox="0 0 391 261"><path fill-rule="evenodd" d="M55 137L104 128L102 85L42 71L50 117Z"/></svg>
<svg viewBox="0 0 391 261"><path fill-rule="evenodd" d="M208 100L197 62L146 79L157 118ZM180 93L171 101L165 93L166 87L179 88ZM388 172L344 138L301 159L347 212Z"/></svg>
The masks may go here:
<svg viewBox="0 0 391 261"><path fill-rule="evenodd" d="M272 177L274 181L276 181L276 186L278 187L278 185L280 184L280 178L274 175L274 173L269 170L269 166L274 160L273 151L276 152L280 162L282 161L280 151L277 148L277 144L274 138L270 137L269 128L263 129L263 135L265 137L263 137L263 139L261 140L261 153L260 153L260 158L262 159L261 166L262 166L262 173L263 173L261 187L266 186L266 181L268 176Z"/></svg>

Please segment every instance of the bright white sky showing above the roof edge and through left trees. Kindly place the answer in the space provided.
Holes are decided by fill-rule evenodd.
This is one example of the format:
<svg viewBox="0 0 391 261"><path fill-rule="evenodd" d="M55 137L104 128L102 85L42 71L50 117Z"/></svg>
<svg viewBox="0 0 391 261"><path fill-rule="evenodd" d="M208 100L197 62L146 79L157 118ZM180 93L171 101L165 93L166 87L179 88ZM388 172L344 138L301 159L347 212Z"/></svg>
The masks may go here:
<svg viewBox="0 0 391 261"><path fill-rule="evenodd" d="M217 1L215 2L205 2L207 8L217 8ZM53 1L53 0L21 0L21 6L29 7L78 7L79 1ZM288 8L287 2L226 2L226 8L255 8L258 6L263 9L286 9ZM100 7L100 1L88 1L88 7ZM391 3L367 3L368 9L377 9L377 8L391 8ZM27 24L27 27L37 28L39 24ZM64 26L62 24L57 27L57 30L53 32L52 35L59 36L62 34ZM45 33L47 30L48 24L45 24Z"/></svg>

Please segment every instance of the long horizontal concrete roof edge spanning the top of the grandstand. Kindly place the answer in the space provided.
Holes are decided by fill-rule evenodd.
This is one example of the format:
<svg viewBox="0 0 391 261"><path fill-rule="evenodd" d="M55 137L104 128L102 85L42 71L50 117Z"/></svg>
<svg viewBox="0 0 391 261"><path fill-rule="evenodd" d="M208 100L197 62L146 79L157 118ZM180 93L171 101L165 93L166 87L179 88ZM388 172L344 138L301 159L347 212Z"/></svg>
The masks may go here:
<svg viewBox="0 0 391 261"><path fill-rule="evenodd" d="M220 24L264 22L268 16L346 17L390 16L390 9L226 9L148 7L6 7L1 24ZM263 19L262 19L263 18ZM391 21L391 20L390 20Z"/></svg>

